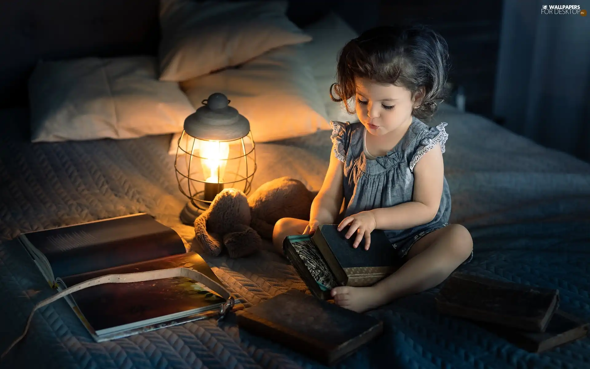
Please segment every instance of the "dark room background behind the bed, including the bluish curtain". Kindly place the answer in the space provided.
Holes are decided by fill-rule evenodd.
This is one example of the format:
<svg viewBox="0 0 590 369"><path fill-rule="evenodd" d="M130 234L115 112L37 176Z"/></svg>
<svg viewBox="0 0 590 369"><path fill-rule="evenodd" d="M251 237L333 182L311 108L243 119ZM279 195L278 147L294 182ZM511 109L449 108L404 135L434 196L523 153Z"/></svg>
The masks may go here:
<svg viewBox="0 0 590 369"><path fill-rule="evenodd" d="M0 107L27 105L27 80L38 60L156 55L158 3L2 0ZM582 8L590 9L589 0L582 3ZM540 0L290 0L287 15L304 27L334 11L358 32L395 22L429 25L447 40L451 54L453 91L448 103L454 104L453 94L461 86L467 112L590 161L590 145L584 139L590 134L590 47L578 50L566 45L574 39L589 44L590 17L544 17L541 4ZM577 87L566 99L563 92L572 84Z"/></svg>

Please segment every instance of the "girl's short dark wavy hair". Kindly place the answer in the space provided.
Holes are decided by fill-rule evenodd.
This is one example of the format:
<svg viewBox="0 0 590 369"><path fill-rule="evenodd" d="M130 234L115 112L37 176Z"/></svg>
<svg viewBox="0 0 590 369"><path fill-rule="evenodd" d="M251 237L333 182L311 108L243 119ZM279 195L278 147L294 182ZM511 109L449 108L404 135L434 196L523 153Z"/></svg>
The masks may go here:
<svg viewBox="0 0 590 369"><path fill-rule="evenodd" d="M353 114L348 100L356 94L355 77L404 86L412 93L424 87L424 97L412 115L430 118L444 100L449 66L447 41L424 25L372 28L340 51L337 83L330 86L330 97L343 101L346 111Z"/></svg>

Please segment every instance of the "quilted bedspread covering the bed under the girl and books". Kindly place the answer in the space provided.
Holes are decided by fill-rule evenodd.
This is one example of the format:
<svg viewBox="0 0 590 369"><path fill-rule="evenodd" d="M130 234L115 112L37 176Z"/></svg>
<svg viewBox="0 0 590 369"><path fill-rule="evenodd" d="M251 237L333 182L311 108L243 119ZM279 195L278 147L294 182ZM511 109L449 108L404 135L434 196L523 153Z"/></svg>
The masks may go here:
<svg viewBox="0 0 590 369"><path fill-rule="evenodd" d="M451 220L473 234L465 272L559 289L562 309L590 320L590 165L444 106L445 174ZM24 231L145 212L191 241L180 224L170 136L89 142L28 142L27 110L0 112L0 351L21 334L35 302L54 291L14 237ZM254 188L277 177L322 184L330 132L256 146ZM268 244L266 244L268 247ZM205 256L205 255L204 255ZM206 257L206 256L205 256ZM267 250L252 257L206 257L219 279L256 304L304 284ZM590 338L531 354L468 321L437 314L437 288L369 312L384 334L340 364L346 368L590 368ZM96 343L63 300L35 313L4 368L321 367L238 329L197 321Z"/></svg>

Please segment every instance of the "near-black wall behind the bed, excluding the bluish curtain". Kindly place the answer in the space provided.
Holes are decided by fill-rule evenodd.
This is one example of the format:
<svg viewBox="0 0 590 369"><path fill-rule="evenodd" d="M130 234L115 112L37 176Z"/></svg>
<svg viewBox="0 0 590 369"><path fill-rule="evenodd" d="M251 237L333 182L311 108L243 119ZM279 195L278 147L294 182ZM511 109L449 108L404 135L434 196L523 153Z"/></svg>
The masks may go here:
<svg viewBox="0 0 590 369"><path fill-rule="evenodd" d="M27 103L26 81L36 58L157 53L157 0L2 0L2 3L2 107ZM467 110L491 117L501 1L441 3L291 0L287 15L303 27L333 10L358 32L399 21L432 25L447 39L453 63L450 81L466 89ZM55 8L60 11L54 11ZM117 9L117 14L107 17L109 8ZM129 17L140 19L134 23L134 29L127 27ZM63 43L64 39L69 39L68 43ZM118 41L113 43L113 40Z"/></svg>

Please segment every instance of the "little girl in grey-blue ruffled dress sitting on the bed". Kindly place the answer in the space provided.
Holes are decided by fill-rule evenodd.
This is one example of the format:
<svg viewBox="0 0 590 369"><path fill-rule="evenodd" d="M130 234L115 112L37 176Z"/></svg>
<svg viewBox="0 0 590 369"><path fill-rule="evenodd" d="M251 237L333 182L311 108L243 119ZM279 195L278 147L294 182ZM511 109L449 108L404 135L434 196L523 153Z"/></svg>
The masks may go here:
<svg viewBox="0 0 590 369"><path fill-rule="evenodd" d="M337 64L335 102L359 123L330 122L333 150L310 220L282 218L274 226L278 250L290 234L313 234L320 224L348 227L353 247L371 231L385 230L407 260L371 287L337 287L338 305L363 312L437 286L473 257L467 229L448 224L451 196L442 153L448 135L422 123L437 110L447 80L447 43L425 27L378 27L343 47ZM352 103L352 102L351 102ZM343 204L344 200L344 204ZM342 205L345 211L340 214ZM359 252L362 252L359 250Z"/></svg>

